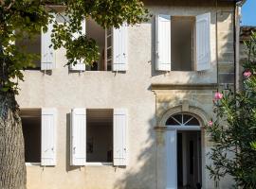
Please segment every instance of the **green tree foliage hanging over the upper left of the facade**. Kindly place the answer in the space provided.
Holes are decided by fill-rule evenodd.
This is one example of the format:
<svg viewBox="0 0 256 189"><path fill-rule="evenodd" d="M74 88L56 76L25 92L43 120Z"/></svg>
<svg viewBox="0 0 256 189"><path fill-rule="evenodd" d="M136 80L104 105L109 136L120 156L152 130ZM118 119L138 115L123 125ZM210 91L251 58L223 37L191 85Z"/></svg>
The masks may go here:
<svg viewBox="0 0 256 189"><path fill-rule="evenodd" d="M52 12L63 16L64 23L57 23ZM97 43L81 33L82 20L89 17L104 28L124 22L133 26L147 21L148 10L140 0L0 0L0 89L18 93L18 80L24 79L22 70L34 66L39 56L27 53L15 42L33 40L42 28L47 30L48 23L54 24L54 48L66 49L67 64L78 60L90 64L97 59ZM76 32L80 37L73 37Z"/></svg>

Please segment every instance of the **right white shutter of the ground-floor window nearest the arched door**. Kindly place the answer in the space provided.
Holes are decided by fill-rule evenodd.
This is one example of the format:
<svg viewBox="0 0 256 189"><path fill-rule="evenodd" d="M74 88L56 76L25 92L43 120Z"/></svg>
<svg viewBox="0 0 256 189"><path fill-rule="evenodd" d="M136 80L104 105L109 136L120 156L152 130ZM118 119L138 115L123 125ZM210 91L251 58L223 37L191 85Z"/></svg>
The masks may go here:
<svg viewBox="0 0 256 189"><path fill-rule="evenodd" d="M114 165L127 165L127 123L125 109L114 110Z"/></svg>

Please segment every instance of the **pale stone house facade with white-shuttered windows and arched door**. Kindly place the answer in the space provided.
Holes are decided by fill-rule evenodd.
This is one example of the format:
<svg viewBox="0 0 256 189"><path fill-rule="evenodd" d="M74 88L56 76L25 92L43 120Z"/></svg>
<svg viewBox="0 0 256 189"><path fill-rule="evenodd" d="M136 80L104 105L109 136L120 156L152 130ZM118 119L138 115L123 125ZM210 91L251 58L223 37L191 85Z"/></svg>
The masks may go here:
<svg viewBox="0 0 256 189"><path fill-rule="evenodd" d="M203 126L213 116L213 94L235 86L237 2L144 3L153 16L137 26L82 23L100 45L95 66L64 66L64 49L48 47L50 30L31 45L41 62L25 71L17 95L28 189L232 184L210 180Z"/></svg>

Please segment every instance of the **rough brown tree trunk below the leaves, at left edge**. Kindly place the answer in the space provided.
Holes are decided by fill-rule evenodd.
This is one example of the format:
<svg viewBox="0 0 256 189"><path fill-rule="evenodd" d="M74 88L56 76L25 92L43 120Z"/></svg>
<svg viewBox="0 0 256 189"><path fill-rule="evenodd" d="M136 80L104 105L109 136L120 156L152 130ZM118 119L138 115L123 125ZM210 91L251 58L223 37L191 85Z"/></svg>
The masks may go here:
<svg viewBox="0 0 256 189"><path fill-rule="evenodd" d="M0 188L26 189L22 123L13 92L0 92Z"/></svg>

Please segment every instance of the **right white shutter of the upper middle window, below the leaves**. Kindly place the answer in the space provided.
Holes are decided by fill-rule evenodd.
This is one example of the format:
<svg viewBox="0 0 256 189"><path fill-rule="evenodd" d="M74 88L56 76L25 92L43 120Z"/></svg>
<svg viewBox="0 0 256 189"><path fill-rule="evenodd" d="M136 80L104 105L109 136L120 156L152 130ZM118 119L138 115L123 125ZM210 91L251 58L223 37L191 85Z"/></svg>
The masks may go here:
<svg viewBox="0 0 256 189"><path fill-rule="evenodd" d="M119 28L113 28L113 71L126 71L128 70L127 59L127 38L128 26L123 24Z"/></svg>

